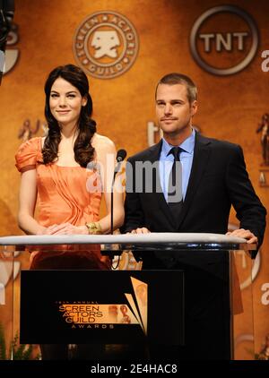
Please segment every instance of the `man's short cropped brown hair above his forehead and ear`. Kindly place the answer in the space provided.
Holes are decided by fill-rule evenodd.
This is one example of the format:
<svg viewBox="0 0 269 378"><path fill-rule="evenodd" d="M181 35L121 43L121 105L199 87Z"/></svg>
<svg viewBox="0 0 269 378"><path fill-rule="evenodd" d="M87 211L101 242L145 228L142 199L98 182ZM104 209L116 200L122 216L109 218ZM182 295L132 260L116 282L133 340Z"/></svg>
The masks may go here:
<svg viewBox="0 0 269 378"><path fill-rule="evenodd" d="M176 84L182 84L186 86L187 89L187 99L190 104L192 104L197 99L197 87L195 83L183 73L168 73L165 76L163 76L158 82L156 91L155 91L155 99L157 94L157 89L160 84L167 84L167 85L176 85Z"/></svg>

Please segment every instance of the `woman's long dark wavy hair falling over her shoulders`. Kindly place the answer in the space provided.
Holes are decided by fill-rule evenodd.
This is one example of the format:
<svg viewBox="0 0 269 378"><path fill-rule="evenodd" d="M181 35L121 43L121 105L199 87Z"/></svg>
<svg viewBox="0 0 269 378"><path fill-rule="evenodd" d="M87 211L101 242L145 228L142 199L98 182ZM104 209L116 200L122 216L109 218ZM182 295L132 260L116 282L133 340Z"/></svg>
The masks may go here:
<svg viewBox="0 0 269 378"><path fill-rule="evenodd" d="M45 116L48 123L48 135L42 149L44 164L52 163L57 159L58 145L61 141L61 131L56 118L51 114L49 107L50 90L58 77L70 82L77 88L82 97L87 99L87 104L82 107L78 121L78 136L74 142L74 159L81 167L86 168L93 159L94 148L91 146L91 138L96 132L96 123L91 119L92 100L89 94L89 82L82 69L74 64L60 65L48 75L45 83L46 105Z"/></svg>

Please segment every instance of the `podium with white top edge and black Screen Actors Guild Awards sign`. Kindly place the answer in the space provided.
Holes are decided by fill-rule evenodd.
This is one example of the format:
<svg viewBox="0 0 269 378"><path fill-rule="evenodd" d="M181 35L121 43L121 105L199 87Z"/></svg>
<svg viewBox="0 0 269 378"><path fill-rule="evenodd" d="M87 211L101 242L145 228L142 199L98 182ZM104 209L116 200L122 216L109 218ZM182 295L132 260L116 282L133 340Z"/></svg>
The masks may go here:
<svg viewBox="0 0 269 378"><path fill-rule="evenodd" d="M46 253L51 245L100 245L113 265L133 253L143 270L29 271L25 245L42 245ZM178 360L254 358L256 245L245 239L193 233L4 236L0 246L0 330L7 346L20 334L21 343L34 345L87 339L145 345L145 359L161 358L161 350ZM57 285L49 287L53 280ZM74 282L80 283L77 291ZM121 357L119 348L115 358Z"/></svg>

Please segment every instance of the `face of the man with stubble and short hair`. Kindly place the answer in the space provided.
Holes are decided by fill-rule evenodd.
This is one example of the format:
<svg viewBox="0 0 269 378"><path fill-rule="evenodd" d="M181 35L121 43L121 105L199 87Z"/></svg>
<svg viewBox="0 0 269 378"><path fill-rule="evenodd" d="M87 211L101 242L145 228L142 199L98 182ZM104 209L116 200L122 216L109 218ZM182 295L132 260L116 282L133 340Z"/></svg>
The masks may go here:
<svg viewBox="0 0 269 378"><path fill-rule="evenodd" d="M156 116L164 135L177 136L191 132L191 119L197 110L197 101L187 99L183 84L159 84L156 92Z"/></svg>

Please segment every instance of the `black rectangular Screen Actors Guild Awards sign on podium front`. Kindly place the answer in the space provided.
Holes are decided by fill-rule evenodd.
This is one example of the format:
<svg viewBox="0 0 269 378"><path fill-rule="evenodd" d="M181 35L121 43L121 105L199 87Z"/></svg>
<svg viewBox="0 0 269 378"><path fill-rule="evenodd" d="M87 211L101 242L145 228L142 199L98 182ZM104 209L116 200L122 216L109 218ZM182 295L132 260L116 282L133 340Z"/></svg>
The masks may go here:
<svg viewBox="0 0 269 378"><path fill-rule="evenodd" d="M184 345L183 271L22 271L20 342Z"/></svg>

